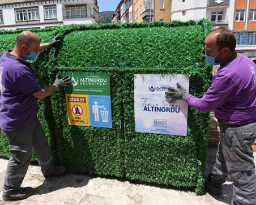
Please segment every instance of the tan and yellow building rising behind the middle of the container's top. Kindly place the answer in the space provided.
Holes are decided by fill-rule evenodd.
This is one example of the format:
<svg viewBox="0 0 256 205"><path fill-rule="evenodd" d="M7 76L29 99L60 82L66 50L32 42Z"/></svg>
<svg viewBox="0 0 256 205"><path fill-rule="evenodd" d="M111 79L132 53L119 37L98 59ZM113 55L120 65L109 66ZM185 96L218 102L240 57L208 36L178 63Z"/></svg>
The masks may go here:
<svg viewBox="0 0 256 205"><path fill-rule="evenodd" d="M120 23L152 22L153 20L170 22L171 0L122 0L119 5Z"/></svg>

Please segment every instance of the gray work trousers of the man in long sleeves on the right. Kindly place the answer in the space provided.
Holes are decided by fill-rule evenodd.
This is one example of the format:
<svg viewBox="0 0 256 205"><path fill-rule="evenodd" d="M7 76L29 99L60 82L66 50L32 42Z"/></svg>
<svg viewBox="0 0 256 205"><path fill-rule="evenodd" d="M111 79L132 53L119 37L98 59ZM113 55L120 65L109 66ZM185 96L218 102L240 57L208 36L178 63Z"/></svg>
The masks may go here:
<svg viewBox="0 0 256 205"><path fill-rule="evenodd" d="M211 181L222 184L229 175L233 181L232 204L235 205L256 204L255 164L251 147L255 136L255 122L240 126L220 125L220 143Z"/></svg>

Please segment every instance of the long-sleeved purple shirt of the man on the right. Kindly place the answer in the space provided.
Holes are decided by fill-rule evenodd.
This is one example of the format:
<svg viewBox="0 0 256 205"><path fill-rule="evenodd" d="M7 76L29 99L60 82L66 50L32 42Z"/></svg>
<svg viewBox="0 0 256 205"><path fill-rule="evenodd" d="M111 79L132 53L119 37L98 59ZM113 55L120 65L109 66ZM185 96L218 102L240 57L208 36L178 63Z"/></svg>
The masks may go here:
<svg viewBox="0 0 256 205"><path fill-rule="evenodd" d="M202 99L187 95L186 102L202 112L215 110L219 121L236 124L256 119L256 65L240 54L226 63L212 78Z"/></svg>

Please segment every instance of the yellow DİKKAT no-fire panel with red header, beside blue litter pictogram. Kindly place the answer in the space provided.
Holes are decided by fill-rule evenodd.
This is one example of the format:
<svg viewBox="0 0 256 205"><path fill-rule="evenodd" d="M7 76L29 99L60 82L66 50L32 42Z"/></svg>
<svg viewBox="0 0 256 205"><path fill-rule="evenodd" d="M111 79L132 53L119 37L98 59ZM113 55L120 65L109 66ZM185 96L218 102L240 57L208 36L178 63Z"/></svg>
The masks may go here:
<svg viewBox="0 0 256 205"><path fill-rule="evenodd" d="M69 124L89 126L88 96L66 94L66 102Z"/></svg>

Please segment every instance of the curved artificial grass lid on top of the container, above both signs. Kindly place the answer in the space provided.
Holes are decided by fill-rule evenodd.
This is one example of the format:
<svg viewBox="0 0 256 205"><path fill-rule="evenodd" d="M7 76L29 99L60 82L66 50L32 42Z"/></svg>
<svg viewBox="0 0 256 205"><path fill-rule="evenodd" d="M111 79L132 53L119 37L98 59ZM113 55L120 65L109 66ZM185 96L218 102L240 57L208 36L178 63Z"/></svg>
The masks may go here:
<svg viewBox="0 0 256 205"><path fill-rule="evenodd" d="M193 32L191 32L193 31ZM74 31L66 35L57 63L67 67L202 67L200 25ZM193 49L191 49L193 48ZM199 61L198 61L199 59ZM79 63L77 63L79 62Z"/></svg>

